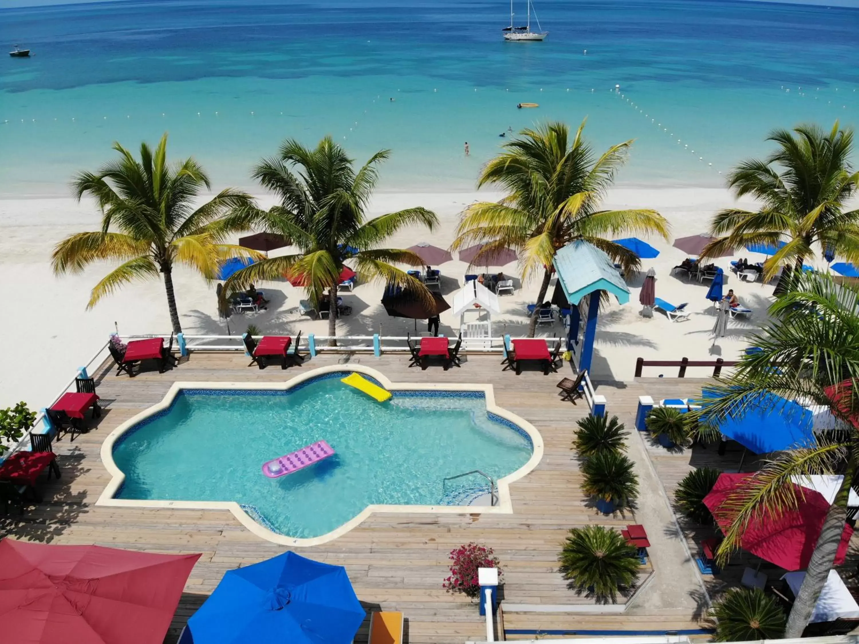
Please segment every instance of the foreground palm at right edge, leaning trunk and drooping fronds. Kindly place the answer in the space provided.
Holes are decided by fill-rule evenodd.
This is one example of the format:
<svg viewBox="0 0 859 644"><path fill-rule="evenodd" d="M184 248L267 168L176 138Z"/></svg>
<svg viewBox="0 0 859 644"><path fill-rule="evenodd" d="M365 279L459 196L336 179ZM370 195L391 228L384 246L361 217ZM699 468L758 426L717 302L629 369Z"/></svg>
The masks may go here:
<svg viewBox="0 0 859 644"><path fill-rule="evenodd" d="M801 636L811 618L835 561L850 485L859 466L859 291L817 274L799 276L795 289L777 299L771 306L771 322L752 336L752 345L760 351L743 356L733 376L713 385L719 397L698 413L700 431L706 434L710 430L705 417L736 415L750 400L771 392L828 407L847 427L832 439L819 438L816 447L780 453L723 506L734 519L720 547L722 561L739 546L746 524L760 512L797 506L791 476L844 473L790 611L785 637Z"/></svg>

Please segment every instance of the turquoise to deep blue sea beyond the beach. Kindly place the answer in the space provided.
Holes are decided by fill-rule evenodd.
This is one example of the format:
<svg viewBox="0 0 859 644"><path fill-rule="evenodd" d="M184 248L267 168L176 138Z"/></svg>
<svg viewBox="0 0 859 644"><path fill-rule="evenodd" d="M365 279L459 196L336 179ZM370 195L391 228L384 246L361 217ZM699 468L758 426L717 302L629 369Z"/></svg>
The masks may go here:
<svg viewBox="0 0 859 644"><path fill-rule="evenodd" d="M535 0L545 42L507 43L505 0L149 0L0 10L0 196L68 194L118 140L169 132L214 187L286 137L393 150L389 190L470 189L498 135L588 118L634 138L626 184L717 186L773 127L859 117L859 9ZM515 0L517 21L525 4ZM616 86L619 85L619 91ZM394 99L393 101L391 99ZM535 109L517 109L523 101ZM471 156L463 154L468 141ZM694 151L692 151L694 150Z"/></svg>

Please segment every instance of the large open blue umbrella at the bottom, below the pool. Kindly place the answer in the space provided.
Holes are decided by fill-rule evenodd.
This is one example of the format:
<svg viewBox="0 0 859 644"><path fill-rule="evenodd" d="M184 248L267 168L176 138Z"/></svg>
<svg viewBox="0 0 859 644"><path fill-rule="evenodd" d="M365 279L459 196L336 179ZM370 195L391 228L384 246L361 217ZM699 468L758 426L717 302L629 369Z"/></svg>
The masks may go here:
<svg viewBox="0 0 859 644"><path fill-rule="evenodd" d="M194 644L350 644L364 616L344 567L285 552L228 570L188 628Z"/></svg>

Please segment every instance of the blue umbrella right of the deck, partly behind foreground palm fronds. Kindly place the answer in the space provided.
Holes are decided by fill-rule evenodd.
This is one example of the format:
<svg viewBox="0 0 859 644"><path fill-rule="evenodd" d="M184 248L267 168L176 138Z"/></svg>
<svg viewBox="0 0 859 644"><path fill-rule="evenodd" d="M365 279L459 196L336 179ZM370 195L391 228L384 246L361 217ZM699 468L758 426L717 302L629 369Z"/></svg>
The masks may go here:
<svg viewBox="0 0 859 644"><path fill-rule="evenodd" d="M719 397L708 389L702 395L705 401ZM755 454L817 445L812 413L797 402L771 393L746 396L734 404L721 423L712 424L728 439Z"/></svg>

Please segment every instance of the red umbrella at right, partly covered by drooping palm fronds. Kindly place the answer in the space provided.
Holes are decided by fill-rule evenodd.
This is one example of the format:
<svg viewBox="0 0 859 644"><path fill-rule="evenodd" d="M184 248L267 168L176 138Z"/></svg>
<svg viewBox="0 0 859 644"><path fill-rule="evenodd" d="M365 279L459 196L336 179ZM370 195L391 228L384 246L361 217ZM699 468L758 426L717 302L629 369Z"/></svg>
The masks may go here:
<svg viewBox="0 0 859 644"><path fill-rule="evenodd" d="M722 510L722 504L728 496L740 488L751 477L750 474L722 474L716 480L710 494L704 497L704 505L710 508L713 518L722 530L728 530L734 515L728 509ZM820 531L829 503L823 494L801 488L791 483L795 488L798 506L795 510L770 513L762 512L749 522L746 531L740 539L740 546L761 559L770 561L785 570L805 570ZM850 544L853 529L844 524L844 534L838 545L835 563L844 563L844 555Z"/></svg>

